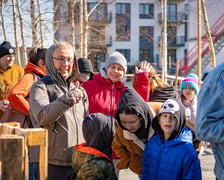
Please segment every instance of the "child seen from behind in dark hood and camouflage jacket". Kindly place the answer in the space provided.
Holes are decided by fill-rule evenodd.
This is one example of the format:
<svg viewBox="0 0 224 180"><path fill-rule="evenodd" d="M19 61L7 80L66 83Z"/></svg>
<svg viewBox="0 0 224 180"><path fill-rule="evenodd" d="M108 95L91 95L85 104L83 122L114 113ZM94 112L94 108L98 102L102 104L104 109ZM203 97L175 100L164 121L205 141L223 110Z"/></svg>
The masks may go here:
<svg viewBox="0 0 224 180"><path fill-rule="evenodd" d="M115 180L111 161L111 143L114 137L114 120L102 113L88 115L83 121L86 143L76 145L72 167L76 179Z"/></svg>

